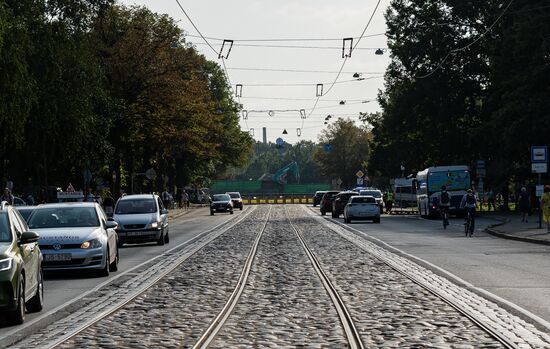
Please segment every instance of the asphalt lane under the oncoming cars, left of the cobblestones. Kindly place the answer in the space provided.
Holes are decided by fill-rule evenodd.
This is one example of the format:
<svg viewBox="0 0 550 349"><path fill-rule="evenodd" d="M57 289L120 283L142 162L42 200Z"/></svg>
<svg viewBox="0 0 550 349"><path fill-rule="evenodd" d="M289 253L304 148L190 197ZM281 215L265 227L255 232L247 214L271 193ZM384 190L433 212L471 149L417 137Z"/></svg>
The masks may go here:
<svg viewBox="0 0 550 349"><path fill-rule="evenodd" d="M236 210L235 215L246 212ZM80 271L70 271L63 273L48 273L44 280L44 309L39 313L27 314L25 322L29 322L42 314L68 303L83 293L96 287L120 273L143 263L159 254L192 239L201 232L211 229L218 224L223 223L234 215L219 213L210 216L208 208L193 210L174 220L170 220L170 243L164 246L158 246L156 243L150 244L127 244L120 248L120 262L117 272L112 272L108 277L97 277L93 273L82 273ZM0 327L2 329L12 329L12 327Z"/></svg>

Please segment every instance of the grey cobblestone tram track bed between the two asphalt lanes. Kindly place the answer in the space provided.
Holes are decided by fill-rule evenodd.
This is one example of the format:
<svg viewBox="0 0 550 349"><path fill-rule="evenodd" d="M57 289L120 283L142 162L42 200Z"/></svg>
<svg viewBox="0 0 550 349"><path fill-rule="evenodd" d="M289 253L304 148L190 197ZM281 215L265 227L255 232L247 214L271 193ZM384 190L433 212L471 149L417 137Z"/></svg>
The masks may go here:
<svg viewBox="0 0 550 349"><path fill-rule="evenodd" d="M258 207L146 292L60 347L192 347L233 292L268 212L269 206ZM273 206L241 299L211 347L347 347L332 301L287 216L344 299L365 347L502 347L429 292L431 286L518 347L550 348L547 334L496 304L301 206ZM61 330L54 323L19 347L39 346L56 331Z"/></svg>

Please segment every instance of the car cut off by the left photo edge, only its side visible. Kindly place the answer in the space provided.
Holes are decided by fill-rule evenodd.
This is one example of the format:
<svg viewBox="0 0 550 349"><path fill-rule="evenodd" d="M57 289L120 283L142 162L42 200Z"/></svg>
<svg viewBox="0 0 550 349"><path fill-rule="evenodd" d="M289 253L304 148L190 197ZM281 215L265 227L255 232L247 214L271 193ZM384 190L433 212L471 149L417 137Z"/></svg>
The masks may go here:
<svg viewBox="0 0 550 349"><path fill-rule="evenodd" d="M0 204L0 317L10 325L25 321L25 308L44 305L42 253L38 234L12 206Z"/></svg>

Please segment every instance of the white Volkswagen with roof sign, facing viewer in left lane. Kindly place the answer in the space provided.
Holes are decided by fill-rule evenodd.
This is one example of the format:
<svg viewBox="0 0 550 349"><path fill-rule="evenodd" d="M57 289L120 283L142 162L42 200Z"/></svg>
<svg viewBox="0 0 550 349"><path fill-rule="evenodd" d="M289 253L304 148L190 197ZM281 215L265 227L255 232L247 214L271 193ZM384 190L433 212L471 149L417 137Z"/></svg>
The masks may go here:
<svg viewBox="0 0 550 349"><path fill-rule="evenodd" d="M40 234L44 270L94 270L101 276L118 270L117 223L95 202L38 206L29 228Z"/></svg>

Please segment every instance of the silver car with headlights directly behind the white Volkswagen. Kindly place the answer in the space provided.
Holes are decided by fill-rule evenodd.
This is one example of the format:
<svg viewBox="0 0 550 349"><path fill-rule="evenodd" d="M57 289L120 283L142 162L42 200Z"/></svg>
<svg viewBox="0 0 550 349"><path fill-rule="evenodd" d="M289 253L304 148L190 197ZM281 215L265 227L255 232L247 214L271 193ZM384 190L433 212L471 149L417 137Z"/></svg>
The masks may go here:
<svg viewBox="0 0 550 349"><path fill-rule="evenodd" d="M119 246L125 243L170 242L168 210L158 195L126 195L118 199L113 219L118 223Z"/></svg>

